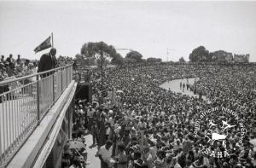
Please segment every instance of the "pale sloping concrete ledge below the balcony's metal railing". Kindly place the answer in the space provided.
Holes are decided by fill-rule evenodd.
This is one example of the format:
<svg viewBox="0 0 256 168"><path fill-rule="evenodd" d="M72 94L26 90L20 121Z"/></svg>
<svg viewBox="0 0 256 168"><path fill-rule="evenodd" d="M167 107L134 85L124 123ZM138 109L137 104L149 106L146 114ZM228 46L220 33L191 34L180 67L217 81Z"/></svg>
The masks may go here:
<svg viewBox="0 0 256 168"><path fill-rule="evenodd" d="M59 136L67 108L72 105L77 83L72 81L55 104L32 132L19 152L10 161L8 168L44 167L44 163ZM62 141L62 140L61 140Z"/></svg>

